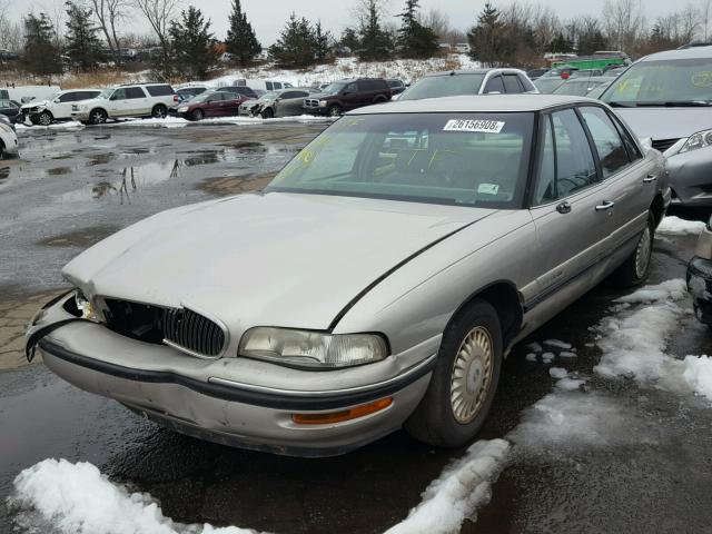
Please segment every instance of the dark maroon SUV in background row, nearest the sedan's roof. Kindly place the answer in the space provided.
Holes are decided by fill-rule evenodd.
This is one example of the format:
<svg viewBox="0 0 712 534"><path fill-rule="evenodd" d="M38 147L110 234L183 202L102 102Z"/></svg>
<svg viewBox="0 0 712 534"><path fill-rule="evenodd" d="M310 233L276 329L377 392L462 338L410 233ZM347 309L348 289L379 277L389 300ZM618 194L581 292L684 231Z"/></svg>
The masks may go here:
<svg viewBox="0 0 712 534"><path fill-rule="evenodd" d="M338 117L344 111L390 100L393 91L382 78L359 78L329 83L324 92L304 99L304 110Z"/></svg>

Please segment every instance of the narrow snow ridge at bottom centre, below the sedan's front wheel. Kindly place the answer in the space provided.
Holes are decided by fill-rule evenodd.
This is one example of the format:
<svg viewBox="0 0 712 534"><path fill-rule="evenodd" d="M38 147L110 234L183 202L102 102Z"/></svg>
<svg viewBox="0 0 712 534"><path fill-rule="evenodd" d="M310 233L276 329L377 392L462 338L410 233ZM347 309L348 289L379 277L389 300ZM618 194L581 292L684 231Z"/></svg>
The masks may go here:
<svg viewBox="0 0 712 534"><path fill-rule="evenodd" d="M423 501L386 534L446 534L459 532L465 517L490 502L492 483L504 468L510 444L479 441L423 492Z"/></svg>

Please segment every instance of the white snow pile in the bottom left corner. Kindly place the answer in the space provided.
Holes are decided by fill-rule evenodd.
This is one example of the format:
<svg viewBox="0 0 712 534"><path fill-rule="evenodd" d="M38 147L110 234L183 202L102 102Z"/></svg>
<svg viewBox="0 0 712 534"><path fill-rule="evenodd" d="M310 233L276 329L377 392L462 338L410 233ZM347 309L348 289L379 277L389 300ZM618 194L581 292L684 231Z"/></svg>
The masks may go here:
<svg viewBox="0 0 712 534"><path fill-rule="evenodd" d="M44 459L14 479L8 501L17 526L61 534L255 534L229 526L181 525L165 517L146 493L129 493L93 465Z"/></svg>

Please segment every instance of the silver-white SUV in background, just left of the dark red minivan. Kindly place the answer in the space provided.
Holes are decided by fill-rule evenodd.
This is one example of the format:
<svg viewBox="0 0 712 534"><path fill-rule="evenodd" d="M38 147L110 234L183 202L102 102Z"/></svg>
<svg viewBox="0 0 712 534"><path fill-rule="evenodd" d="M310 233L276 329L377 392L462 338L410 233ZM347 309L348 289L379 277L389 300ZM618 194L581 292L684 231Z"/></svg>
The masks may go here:
<svg viewBox="0 0 712 534"><path fill-rule="evenodd" d="M165 118L178 95L168 83L126 85L107 89L97 98L72 106L71 117L90 125L122 117Z"/></svg>

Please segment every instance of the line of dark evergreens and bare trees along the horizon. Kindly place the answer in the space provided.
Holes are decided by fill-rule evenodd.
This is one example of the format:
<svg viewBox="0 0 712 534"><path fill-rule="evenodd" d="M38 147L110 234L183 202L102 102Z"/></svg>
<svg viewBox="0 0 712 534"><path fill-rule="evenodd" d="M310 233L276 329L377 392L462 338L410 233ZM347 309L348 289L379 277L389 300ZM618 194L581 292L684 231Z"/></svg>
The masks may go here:
<svg viewBox="0 0 712 534"><path fill-rule="evenodd" d="M263 51L240 0L233 0L227 36L221 41L200 9L179 9L179 2L68 0L63 29L57 13L53 18L44 12L29 13L17 28L0 11L0 48L19 49L24 68L42 77L59 73L67 66L90 71L108 61L118 65L129 42L120 29L131 14L139 13L151 29L151 37L144 42L152 47L156 71L166 79L204 78L225 52L233 63L248 66ZM355 55L363 61L421 59L436 56L443 42L468 42L472 58L491 66L535 67L547 52L586 55L613 49L640 57L695 38L706 41L712 13L712 0L696 0L653 20L647 20L642 0L606 0L599 17L572 19L562 19L541 3L513 1L498 9L487 2L481 12L473 13L469 30L461 31L437 10L423 13L419 0L405 0L394 17L386 2L356 0L354 23L338 37L320 20L293 12L267 49L269 57L285 68L308 68L339 53Z"/></svg>

